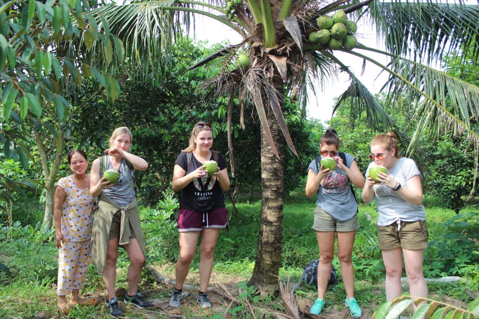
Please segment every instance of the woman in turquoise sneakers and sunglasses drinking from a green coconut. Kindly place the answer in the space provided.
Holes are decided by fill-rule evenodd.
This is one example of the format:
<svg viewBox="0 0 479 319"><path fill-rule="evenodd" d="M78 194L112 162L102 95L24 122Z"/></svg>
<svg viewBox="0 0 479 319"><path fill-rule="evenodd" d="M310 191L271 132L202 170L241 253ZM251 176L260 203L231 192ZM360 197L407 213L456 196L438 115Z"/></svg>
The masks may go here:
<svg viewBox="0 0 479 319"><path fill-rule="evenodd" d="M318 298L309 313L319 315L325 305L324 295L331 274L334 240L337 235L341 277L346 290L345 303L351 315L360 318L361 308L354 298L354 270L351 256L356 229L359 228L356 214L358 205L350 183L363 188L364 177L352 156L344 153L343 158L346 162L339 156L339 138L334 129L329 129L323 134L320 147L321 156L309 164L306 181L306 195L317 196L312 228L316 231L320 254ZM329 158L330 161L333 159L336 162L333 170L324 168L321 164L323 158Z"/></svg>

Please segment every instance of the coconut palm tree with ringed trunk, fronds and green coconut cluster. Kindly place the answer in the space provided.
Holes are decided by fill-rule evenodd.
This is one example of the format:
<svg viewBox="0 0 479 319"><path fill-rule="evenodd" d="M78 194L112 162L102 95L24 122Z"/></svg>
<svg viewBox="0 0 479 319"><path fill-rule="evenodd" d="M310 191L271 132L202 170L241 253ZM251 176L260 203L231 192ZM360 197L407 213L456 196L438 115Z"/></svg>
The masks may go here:
<svg viewBox="0 0 479 319"><path fill-rule="evenodd" d="M340 11L347 18L341 17ZM337 12L333 23L347 24L346 32L334 26L331 31L321 31L326 38L332 34L336 40L336 43L326 42L313 33L321 24L317 19ZM231 100L239 97L242 105L252 103L261 122L261 224L256 263L249 281L261 292L278 287L285 143L296 154L282 114L285 96L305 105L308 86L322 86L333 81L338 72L346 72L351 84L336 107L350 98L353 107L366 112L372 128L395 128L384 106L349 69L347 59L336 56L337 51L360 57L389 73L389 81L383 87L388 93L388 103L404 100L420 123L408 151L414 150L422 134L434 137L440 131L449 131L452 135L467 136L477 157L479 133L473 130L473 124L479 115L479 87L431 67L446 54L465 56L468 52L461 48L471 50L477 61L479 6L476 4L433 0L151 0L103 6L91 14L97 18L99 27L109 24L110 32L125 44L132 65L141 65L144 74L154 72L149 62L166 56L176 37L184 36L182 26L188 29L197 15L220 21L243 37L241 43L225 46L193 67L223 59L223 72L205 83L205 88L213 88L212 93L230 96ZM386 51L362 45L359 34L356 44L352 39L354 24L346 19L374 26ZM329 29L327 25L321 26ZM343 33L352 42L342 40ZM386 55L389 64L375 61L371 53ZM233 70L229 67L231 63L237 66ZM231 102L229 125L233 107ZM243 107L240 109L243 126L242 112Z"/></svg>

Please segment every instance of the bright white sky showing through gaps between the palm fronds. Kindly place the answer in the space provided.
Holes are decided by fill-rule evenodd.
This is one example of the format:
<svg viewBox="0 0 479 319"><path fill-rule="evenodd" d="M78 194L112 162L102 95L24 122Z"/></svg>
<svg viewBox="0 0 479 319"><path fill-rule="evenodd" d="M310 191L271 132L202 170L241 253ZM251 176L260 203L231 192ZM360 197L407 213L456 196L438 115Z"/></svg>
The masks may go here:
<svg viewBox="0 0 479 319"><path fill-rule="evenodd" d="M218 21L210 18L203 18L201 16L197 16L196 19L195 38L198 40L208 41L209 44L219 43L224 40L228 40L231 44L237 44L242 40L238 33ZM366 46L384 49L381 45L378 46L375 30L373 30L371 26L359 24L356 36L358 41ZM387 64L388 62L387 59L380 54L358 49L355 50L381 62L382 64ZM367 62L365 72L361 76L362 59L343 52L335 52L335 56L349 66L356 77L363 82L371 92L379 93L379 90L388 78L386 73L380 74L381 68ZM349 76L340 74L337 80L327 85L323 90L318 87L315 88L317 96L314 97L313 94L309 94L307 116L309 118L319 119L323 123L329 120L334 107L334 98L339 97L348 88L349 84Z"/></svg>

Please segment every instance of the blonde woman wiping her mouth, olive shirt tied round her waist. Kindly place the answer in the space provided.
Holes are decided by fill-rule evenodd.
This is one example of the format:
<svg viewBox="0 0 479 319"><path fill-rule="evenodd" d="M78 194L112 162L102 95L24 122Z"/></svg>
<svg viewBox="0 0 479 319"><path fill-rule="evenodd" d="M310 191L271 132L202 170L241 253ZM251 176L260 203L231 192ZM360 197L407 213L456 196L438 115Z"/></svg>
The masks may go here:
<svg viewBox="0 0 479 319"><path fill-rule="evenodd" d="M137 308L153 306L138 292L145 264L145 247L133 188L133 172L146 170L148 163L129 153L132 140L133 136L127 127L117 128L111 135L110 148L104 152L107 156L94 160L91 165L90 192L93 197L99 197L93 221L92 263L103 276L108 294L107 306L112 317L123 317L115 296L119 246L127 251L130 259L125 303ZM120 173L120 179L115 184L103 176L109 169Z"/></svg>

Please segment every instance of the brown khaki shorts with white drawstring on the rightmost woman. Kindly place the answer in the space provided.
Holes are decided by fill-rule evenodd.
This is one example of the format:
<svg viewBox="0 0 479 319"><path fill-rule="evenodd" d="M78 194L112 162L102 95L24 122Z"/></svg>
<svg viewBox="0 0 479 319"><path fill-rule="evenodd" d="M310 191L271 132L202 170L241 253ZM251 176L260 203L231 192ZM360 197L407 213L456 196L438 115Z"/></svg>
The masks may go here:
<svg viewBox="0 0 479 319"><path fill-rule="evenodd" d="M394 222L378 226L379 248L382 250L404 248L418 250L428 247L428 225L425 220Z"/></svg>

